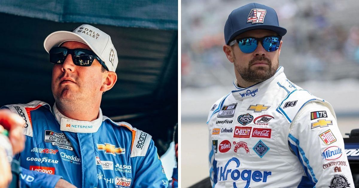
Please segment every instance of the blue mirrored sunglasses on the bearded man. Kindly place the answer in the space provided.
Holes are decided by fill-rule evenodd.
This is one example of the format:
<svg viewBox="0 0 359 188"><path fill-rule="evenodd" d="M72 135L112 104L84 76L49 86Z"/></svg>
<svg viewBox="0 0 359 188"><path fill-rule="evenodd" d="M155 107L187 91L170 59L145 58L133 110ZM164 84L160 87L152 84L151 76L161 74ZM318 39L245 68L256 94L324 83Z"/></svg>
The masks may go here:
<svg viewBox="0 0 359 188"><path fill-rule="evenodd" d="M258 41L261 41L262 46L266 51L276 51L279 48L281 39L281 36L266 36L262 38L245 37L229 42L229 46L238 43L238 47L243 53L252 53L256 50Z"/></svg>

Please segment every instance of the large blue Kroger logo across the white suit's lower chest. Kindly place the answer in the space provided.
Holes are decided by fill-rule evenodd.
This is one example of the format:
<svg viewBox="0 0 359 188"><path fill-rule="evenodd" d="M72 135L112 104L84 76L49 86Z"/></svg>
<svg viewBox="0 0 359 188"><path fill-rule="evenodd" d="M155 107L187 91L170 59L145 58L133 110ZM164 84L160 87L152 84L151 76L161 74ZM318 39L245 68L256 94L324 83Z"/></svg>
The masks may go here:
<svg viewBox="0 0 359 188"><path fill-rule="evenodd" d="M227 169L228 165L230 162L234 162L236 164L236 167L233 169ZM271 171L264 171L263 173L261 171L253 171L252 170L242 170L239 171L239 165L240 162L236 157L233 157L232 159L229 159L227 164L225 164L225 166L221 166L217 168L217 174L219 175L219 181L227 181L228 178L237 181L239 179L242 179L243 181L247 181L246 182L246 188L250 187L251 184L251 180L255 181L255 182L267 182L267 178L269 175L272 175ZM234 166L234 165L230 165L230 166ZM217 180L218 180L218 175L217 175ZM239 183L241 183L241 180L237 181ZM233 182L233 187L237 187L236 182Z"/></svg>

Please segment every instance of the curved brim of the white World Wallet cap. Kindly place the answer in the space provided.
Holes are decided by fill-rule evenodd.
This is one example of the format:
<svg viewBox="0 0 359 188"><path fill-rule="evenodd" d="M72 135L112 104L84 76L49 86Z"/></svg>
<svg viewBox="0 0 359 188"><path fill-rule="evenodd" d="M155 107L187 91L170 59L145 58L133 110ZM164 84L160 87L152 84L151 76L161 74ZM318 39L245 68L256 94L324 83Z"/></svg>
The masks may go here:
<svg viewBox="0 0 359 188"><path fill-rule="evenodd" d="M47 51L47 53L53 48L58 47L62 43L66 41L78 41L86 44L90 47L90 49L95 52L96 55L98 55L97 51L95 51L92 46L81 36L79 36L76 33L70 32L70 31L56 31L51 33L45 38L44 41L44 48Z"/></svg>

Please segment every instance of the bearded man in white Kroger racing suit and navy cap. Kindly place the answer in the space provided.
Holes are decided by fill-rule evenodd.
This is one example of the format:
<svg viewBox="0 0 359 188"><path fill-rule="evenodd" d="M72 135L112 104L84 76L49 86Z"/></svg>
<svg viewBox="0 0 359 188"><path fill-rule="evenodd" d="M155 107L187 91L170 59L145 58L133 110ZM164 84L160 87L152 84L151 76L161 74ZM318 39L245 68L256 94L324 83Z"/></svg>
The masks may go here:
<svg viewBox="0 0 359 188"><path fill-rule="evenodd" d="M236 79L208 116L213 187L354 187L331 105L279 66L285 33L265 5L228 16L223 51Z"/></svg>

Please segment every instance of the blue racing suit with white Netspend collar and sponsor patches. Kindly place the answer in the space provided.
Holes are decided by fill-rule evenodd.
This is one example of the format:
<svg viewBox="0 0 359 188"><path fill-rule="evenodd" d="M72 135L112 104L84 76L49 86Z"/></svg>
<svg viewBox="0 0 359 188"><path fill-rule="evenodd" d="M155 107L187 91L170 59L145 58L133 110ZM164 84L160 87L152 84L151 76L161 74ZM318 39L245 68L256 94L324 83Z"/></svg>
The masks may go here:
<svg viewBox="0 0 359 188"><path fill-rule="evenodd" d="M76 187L167 187L151 136L102 115L67 118L42 101L6 105L25 120L21 187L55 187L60 178Z"/></svg>

